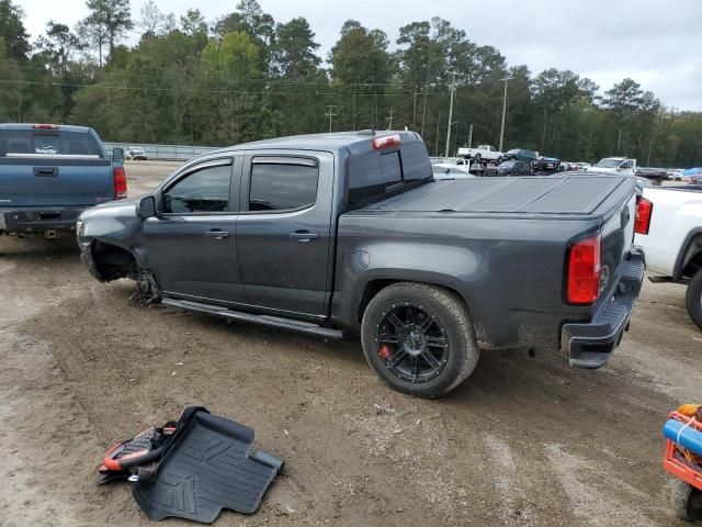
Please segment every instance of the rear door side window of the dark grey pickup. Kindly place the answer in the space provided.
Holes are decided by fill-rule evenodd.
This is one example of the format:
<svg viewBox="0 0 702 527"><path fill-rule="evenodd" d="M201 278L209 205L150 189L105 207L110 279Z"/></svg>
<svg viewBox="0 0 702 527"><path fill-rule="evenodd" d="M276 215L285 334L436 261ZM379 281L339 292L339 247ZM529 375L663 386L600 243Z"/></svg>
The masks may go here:
<svg viewBox="0 0 702 527"><path fill-rule="evenodd" d="M290 211L317 201L319 167L313 159L254 157L249 211Z"/></svg>

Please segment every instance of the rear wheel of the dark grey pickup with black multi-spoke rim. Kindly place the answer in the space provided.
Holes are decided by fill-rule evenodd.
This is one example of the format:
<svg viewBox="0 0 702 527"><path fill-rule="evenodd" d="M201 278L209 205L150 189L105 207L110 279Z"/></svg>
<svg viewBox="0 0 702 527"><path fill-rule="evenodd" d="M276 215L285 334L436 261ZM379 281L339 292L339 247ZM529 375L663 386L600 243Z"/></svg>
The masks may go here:
<svg viewBox="0 0 702 527"><path fill-rule="evenodd" d="M400 282L376 294L363 314L361 339L366 360L390 388L424 399L458 386L480 355L463 301L421 283Z"/></svg>

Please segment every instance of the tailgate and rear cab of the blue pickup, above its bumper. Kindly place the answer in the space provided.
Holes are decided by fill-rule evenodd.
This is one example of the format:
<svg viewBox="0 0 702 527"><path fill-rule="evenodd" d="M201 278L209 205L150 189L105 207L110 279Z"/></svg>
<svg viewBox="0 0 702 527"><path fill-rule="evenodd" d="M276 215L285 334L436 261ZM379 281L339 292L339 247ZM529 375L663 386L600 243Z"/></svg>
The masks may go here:
<svg viewBox="0 0 702 527"><path fill-rule="evenodd" d="M0 130L1 206L89 206L113 199L112 164L92 133Z"/></svg>

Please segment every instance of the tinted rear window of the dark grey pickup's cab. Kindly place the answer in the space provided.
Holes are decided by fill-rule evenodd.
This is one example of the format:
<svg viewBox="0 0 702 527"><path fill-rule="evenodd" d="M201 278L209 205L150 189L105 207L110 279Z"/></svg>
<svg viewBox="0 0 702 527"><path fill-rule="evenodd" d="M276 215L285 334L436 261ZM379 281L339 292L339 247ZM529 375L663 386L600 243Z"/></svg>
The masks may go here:
<svg viewBox="0 0 702 527"><path fill-rule="evenodd" d="M373 201L405 183L431 176L431 161L421 142L401 145L399 149L371 150L353 156L349 161L349 205Z"/></svg>

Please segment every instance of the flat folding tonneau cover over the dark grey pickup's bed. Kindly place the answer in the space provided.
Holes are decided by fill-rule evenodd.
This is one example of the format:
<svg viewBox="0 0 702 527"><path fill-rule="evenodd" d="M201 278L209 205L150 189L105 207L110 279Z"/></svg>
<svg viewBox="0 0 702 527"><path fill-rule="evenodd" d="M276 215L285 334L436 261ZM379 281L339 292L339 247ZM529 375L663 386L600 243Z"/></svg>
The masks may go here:
<svg viewBox="0 0 702 527"><path fill-rule="evenodd" d="M604 214L604 209L610 208L603 204L621 202L631 195L634 184L633 178L627 176L595 175L442 180L422 184L359 212Z"/></svg>

